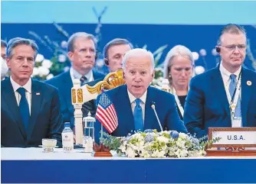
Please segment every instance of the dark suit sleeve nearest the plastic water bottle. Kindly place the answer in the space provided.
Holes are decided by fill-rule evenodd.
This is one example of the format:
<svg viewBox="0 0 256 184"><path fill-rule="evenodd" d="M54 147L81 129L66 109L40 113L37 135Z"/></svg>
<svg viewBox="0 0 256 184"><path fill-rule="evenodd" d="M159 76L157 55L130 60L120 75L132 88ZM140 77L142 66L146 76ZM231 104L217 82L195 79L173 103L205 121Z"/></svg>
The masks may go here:
<svg viewBox="0 0 256 184"><path fill-rule="evenodd" d="M61 132L64 129L61 115L61 104L57 89L54 91L51 101L51 118L49 120L50 130L49 137L57 140L57 146L61 147Z"/></svg>

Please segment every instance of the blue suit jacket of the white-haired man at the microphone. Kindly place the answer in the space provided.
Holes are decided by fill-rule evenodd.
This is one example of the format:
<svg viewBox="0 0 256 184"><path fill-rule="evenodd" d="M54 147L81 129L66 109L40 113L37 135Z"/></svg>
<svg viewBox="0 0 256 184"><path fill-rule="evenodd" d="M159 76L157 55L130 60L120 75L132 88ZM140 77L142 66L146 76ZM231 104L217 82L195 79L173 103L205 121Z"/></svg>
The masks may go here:
<svg viewBox="0 0 256 184"><path fill-rule="evenodd" d="M110 100L117 111L118 127L113 131L113 136L127 136L128 133L132 133L135 130L133 111L130 105L130 98L127 92L127 86L119 86L115 89L107 91ZM97 98L100 98L100 95ZM150 87L147 90L146 105L145 105L145 119L144 119L144 130L156 129L160 131L156 115L151 108L152 102L155 102L156 113L159 116L159 121L162 124L162 129L165 130L176 130L179 132L186 133L187 130L183 121L180 120L176 102L174 96L168 92ZM100 121L95 124L95 140L99 142L100 137Z"/></svg>

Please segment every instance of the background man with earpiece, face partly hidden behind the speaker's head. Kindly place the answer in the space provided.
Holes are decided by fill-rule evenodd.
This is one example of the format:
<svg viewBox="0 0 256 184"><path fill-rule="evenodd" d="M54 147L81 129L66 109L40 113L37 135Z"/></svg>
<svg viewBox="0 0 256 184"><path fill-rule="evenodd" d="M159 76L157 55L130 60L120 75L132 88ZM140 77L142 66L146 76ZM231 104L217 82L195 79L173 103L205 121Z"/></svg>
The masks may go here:
<svg viewBox="0 0 256 184"><path fill-rule="evenodd" d="M116 72L117 69L122 69L123 56L131 49L133 49L133 44L123 38L115 38L105 45L103 49L104 61L106 66L108 66L110 73ZM88 82L87 84L89 86L94 86L97 82L102 80L103 79L97 79L94 82ZM82 111L83 115L87 116L90 111L91 115L94 116L96 113L95 100L90 100L89 102L84 103Z"/></svg>

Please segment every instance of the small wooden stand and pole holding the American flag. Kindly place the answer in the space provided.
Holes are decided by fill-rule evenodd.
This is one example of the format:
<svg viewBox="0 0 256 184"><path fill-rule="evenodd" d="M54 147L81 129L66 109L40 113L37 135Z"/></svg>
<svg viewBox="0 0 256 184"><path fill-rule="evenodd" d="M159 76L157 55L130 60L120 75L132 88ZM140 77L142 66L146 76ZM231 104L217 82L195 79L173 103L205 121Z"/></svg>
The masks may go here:
<svg viewBox="0 0 256 184"><path fill-rule="evenodd" d="M101 124L101 138L103 138L103 125ZM102 143L98 145L94 142L94 157L113 157L110 153L110 149L108 147L105 147Z"/></svg>

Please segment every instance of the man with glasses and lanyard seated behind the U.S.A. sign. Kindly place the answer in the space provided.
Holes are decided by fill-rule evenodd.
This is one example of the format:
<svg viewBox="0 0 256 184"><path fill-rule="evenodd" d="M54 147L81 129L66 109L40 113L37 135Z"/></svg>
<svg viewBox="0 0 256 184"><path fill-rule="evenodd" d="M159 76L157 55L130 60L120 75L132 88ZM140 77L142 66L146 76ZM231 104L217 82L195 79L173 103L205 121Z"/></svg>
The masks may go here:
<svg viewBox="0 0 256 184"><path fill-rule="evenodd" d="M256 127L256 73L242 66L246 40L243 27L226 25L216 46L221 63L192 79L184 114L191 134L204 137L208 128Z"/></svg>

